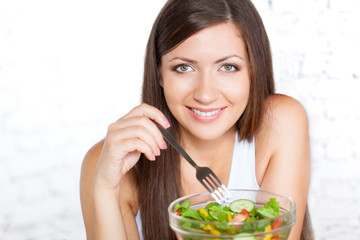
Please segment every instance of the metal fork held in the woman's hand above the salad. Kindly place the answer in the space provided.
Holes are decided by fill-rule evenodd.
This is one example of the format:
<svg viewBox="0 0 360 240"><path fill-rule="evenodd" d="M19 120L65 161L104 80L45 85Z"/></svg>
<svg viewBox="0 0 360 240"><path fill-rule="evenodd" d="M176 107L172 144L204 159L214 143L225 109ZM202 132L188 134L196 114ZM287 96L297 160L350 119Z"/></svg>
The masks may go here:
<svg viewBox="0 0 360 240"><path fill-rule="evenodd" d="M167 129L164 129L161 126L158 126L158 128L166 141L170 143L171 146L173 146L196 169L196 178L206 188L206 190L208 190L216 202L221 204L222 202L229 200L231 197L230 192L215 175L215 173L208 167L198 166Z"/></svg>

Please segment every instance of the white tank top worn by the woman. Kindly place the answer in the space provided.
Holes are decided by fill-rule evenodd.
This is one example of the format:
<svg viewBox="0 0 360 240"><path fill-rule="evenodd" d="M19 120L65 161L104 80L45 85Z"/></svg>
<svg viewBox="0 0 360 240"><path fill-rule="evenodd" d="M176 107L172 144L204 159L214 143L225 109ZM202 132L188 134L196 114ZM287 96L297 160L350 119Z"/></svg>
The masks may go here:
<svg viewBox="0 0 360 240"><path fill-rule="evenodd" d="M260 189L255 174L255 139L251 142L247 140L238 141L238 134L236 133L227 187L228 189ZM136 214L135 220L140 240L143 240L140 211Z"/></svg>

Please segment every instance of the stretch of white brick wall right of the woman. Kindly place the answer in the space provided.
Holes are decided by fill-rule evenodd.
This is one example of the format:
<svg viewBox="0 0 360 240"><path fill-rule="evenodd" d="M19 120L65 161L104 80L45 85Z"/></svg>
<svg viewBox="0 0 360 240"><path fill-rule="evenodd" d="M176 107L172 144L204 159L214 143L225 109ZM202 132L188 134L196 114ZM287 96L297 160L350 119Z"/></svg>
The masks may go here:
<svg viewBox="0 0 360 240"><path fill-rule="evenodd" d="M272 43L277 90L308 111L316 239L360 239L360 1L255 4Z"/></svg>

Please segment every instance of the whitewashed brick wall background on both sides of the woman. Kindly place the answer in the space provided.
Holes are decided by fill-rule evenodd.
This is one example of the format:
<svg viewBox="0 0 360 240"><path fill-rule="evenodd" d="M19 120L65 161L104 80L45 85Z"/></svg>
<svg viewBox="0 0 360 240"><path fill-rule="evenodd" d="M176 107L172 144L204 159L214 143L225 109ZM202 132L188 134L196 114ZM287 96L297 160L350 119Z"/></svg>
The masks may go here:
<svg viewBox="0 0 360 240"><path fill-rule="evenodd" d="M163 3L0 0L1 240L85 239L81 161L138 104ZM360 239L360 1L254 3L277 90L309 114L316 239Z"/></svg>

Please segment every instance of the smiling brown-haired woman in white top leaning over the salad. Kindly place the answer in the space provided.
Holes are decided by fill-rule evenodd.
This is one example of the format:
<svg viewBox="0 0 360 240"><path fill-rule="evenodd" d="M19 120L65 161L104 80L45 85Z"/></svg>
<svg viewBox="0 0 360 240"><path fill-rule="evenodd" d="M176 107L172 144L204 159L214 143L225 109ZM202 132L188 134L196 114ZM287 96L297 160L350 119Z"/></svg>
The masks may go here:
<svg viewBox="0 0 360 240"><path fill-rule="evenodd" d="M274 93L268 38L250 1L168 1L148 41L142 102L84 159L88 239L176 239L168 205L205 191L156 124L171 126L197 164L229 188L291 196L297 218L289 239L300 239L310 178L307 116L296 100Z"/></svg>

